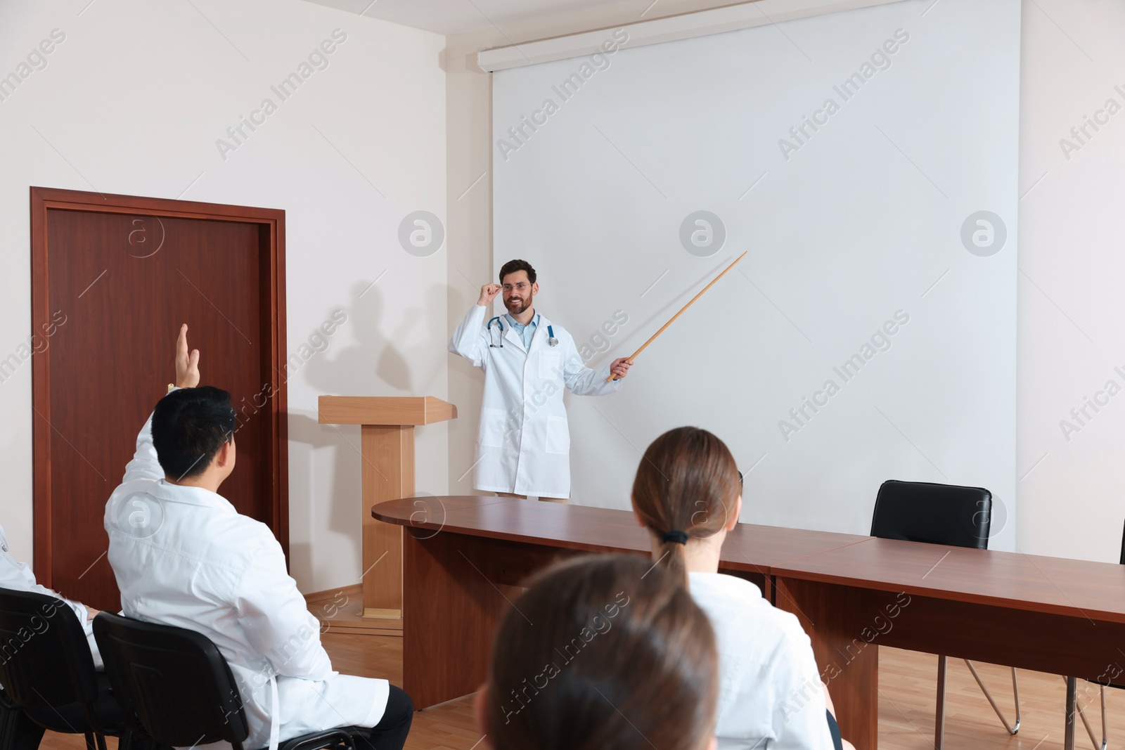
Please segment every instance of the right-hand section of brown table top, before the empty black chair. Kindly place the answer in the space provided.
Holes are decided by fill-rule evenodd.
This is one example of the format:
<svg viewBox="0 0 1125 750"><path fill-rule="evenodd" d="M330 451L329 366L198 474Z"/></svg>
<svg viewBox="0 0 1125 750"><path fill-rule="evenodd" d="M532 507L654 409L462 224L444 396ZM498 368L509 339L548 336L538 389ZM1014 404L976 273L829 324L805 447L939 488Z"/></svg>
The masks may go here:
<svg viewBox="0 0 1125 750"><path fill-rule="evenodd" d="M868 539L774 576L1125 623L1125 566Z"/></svg>

